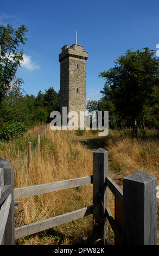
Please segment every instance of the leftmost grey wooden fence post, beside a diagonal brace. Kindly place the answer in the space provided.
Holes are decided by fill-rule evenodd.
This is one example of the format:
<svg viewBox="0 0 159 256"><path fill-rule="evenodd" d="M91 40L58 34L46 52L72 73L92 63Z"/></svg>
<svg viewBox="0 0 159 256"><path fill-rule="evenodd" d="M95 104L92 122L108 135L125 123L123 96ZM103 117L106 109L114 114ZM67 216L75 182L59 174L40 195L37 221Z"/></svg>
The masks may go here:
<svg viewBox="0 0 159 256"><path fill-rule="evenodd" d="M9 209L8 220L4 233L4 245L15 245L15 220L14 220L14 179L13 168L6 164L3 167L4 185L11 184L11 204Z"/></svg>

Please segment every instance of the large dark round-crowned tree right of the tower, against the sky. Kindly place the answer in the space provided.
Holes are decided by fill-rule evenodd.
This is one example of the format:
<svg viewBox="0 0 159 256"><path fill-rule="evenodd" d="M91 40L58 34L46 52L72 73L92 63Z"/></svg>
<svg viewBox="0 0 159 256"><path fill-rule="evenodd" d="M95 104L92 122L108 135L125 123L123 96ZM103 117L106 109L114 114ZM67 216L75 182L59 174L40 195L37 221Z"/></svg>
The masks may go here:
<svg viewBox="0 0 159 256"><path fill-rule="evenodd" d="M136 124L143 128L145 106L154 102L155 90L159 86L159 61L154 51L148 47L142 51L128 50L117 58L113 68L99 76L106 79L105 92L119 117L134 129Z"/></svg>

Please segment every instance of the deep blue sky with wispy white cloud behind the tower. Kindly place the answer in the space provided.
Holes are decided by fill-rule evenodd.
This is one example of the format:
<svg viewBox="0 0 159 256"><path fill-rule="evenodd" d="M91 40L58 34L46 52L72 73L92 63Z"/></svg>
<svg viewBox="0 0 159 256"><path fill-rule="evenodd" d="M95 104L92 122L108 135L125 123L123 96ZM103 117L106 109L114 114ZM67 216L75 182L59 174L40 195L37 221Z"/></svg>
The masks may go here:
<svg viewBox="0 0 159 256"><path fill-rule="evenodd" d="M76 42L88 51L87 99L99 100L105 80L99 73L112 68L128 49L159 44L158 0L15 0L1 1L0 25L27 26L23 68L16 77L35 96L60 89L59 54Z"/></svg>

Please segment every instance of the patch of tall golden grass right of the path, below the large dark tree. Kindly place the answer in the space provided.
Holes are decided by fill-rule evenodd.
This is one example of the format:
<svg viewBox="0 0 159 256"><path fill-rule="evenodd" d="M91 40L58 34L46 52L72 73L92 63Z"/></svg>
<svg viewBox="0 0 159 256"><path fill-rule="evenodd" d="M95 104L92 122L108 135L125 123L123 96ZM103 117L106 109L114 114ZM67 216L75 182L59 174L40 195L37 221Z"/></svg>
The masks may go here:
<svg viewBox="0 0 159 256"><path fill-rule="evenodd" d="M121 177L143 170L159 178L159 140L148 131L145 138L132 138L129 132L111 131L106 138L110 169Z"/></svg>

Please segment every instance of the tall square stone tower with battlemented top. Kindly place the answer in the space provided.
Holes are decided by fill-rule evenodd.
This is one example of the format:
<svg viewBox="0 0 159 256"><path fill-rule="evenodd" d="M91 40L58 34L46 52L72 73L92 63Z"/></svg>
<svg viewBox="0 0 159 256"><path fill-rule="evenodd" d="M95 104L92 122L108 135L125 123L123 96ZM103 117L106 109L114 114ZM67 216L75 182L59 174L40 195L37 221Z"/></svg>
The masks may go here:
<svg viewBox="0 0 159 256"><path fill-rule="evenodd" d="M62 47L60 62L60 113L62 107L70 111L86 111L86 61L88 52L81 45ZM68 119L67 119L68 121Z"/></svg>

